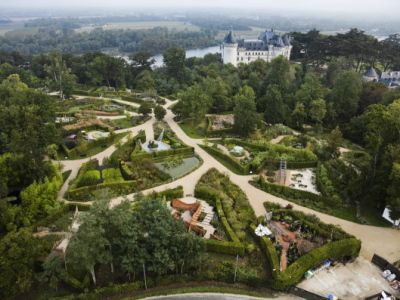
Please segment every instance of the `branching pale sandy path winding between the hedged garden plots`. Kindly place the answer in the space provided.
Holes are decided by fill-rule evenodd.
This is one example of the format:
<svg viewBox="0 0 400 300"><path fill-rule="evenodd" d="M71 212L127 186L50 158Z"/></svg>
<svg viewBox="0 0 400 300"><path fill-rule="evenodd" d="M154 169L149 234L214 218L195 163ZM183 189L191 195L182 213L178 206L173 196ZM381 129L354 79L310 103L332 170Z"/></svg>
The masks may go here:
<svg viewBox="0 0 400 300"><path fill-rule="evenodd" d="M165 108L171 107L174 103L166 99L167 103ZM129 102L128 102L129 103ZM129 105L126 103L127 105ZM268 194L262 190L259 190L252 186L249 183L249 180L252 179L252 176L241 176L234 174L232 171L227 169L221 163L219 163L216 159L214 159L210 154L204 151L202 148L199 147L203 141L199 139L192 139L185 134L185 132L181 129L181 127L174 121L174 114L170 109L167 109L167 114L165 116L165 121L168 123L170 128L175 132L177 137L182 140L183 143L194 147L196 153L203 159L203 164L192 173L188 174L185 177L182 177L174 182L167 183L146 191L143 191L144 194L150 193L152 191L163 191L169 188L175 188L178 186L183 186L185 195L192 195L194 193L194 188L197 181L200 177L207 172L210 168L216 168L220 172L227 174L231 181L237 184L247 195L249 199L249 203L252 206L255 214L257 216L262 216L265 214L265 208L263 203L266 201L279 203L281 205L291 204L294 209L302 211L307 214L314 214L321 219L321 221L325 223L335 224L340 226L343 230L347 231L348 233L356 236L358 239L362 241L362 249L361 255L364 256L366 259L371 259L374 253L379 254L389 260L390 262L394 262L400 258L400 230L395 230L392 228L383 228L383 227L375 227L369 225L361 225L357 223L353 223L350 221L346 221L343 219L339 219L334 216L330 216L321 212L314 211L312 209L296 205L292 202L289 202L285 199L273 196ZM146 134L149 132L153 132L152 126L154 123L154 117L147 121L146 123L127 129L131 133L137 133L140 129L144 129ZM124 139L125 141L127 138ZM124 140L122 142L124 142ZM115 150L115 147L112 146L102 153L99 153L92 158L97 158L101 162L104 157L108 157L112 154ZM62 190L60 191L60 198L63 197L65 191L68 188L68 183L72 178L75 178L80 165L83 162L88 161L89 159L77 160L77 161L63 161L61 162L64 165L66 170L72 170L71 176L69 176L68 180L65 182ZM117 197L112 199L111 205L116 205L121 201L128 199L133 200L134 194L126 195L123 197Z"/></svg>

